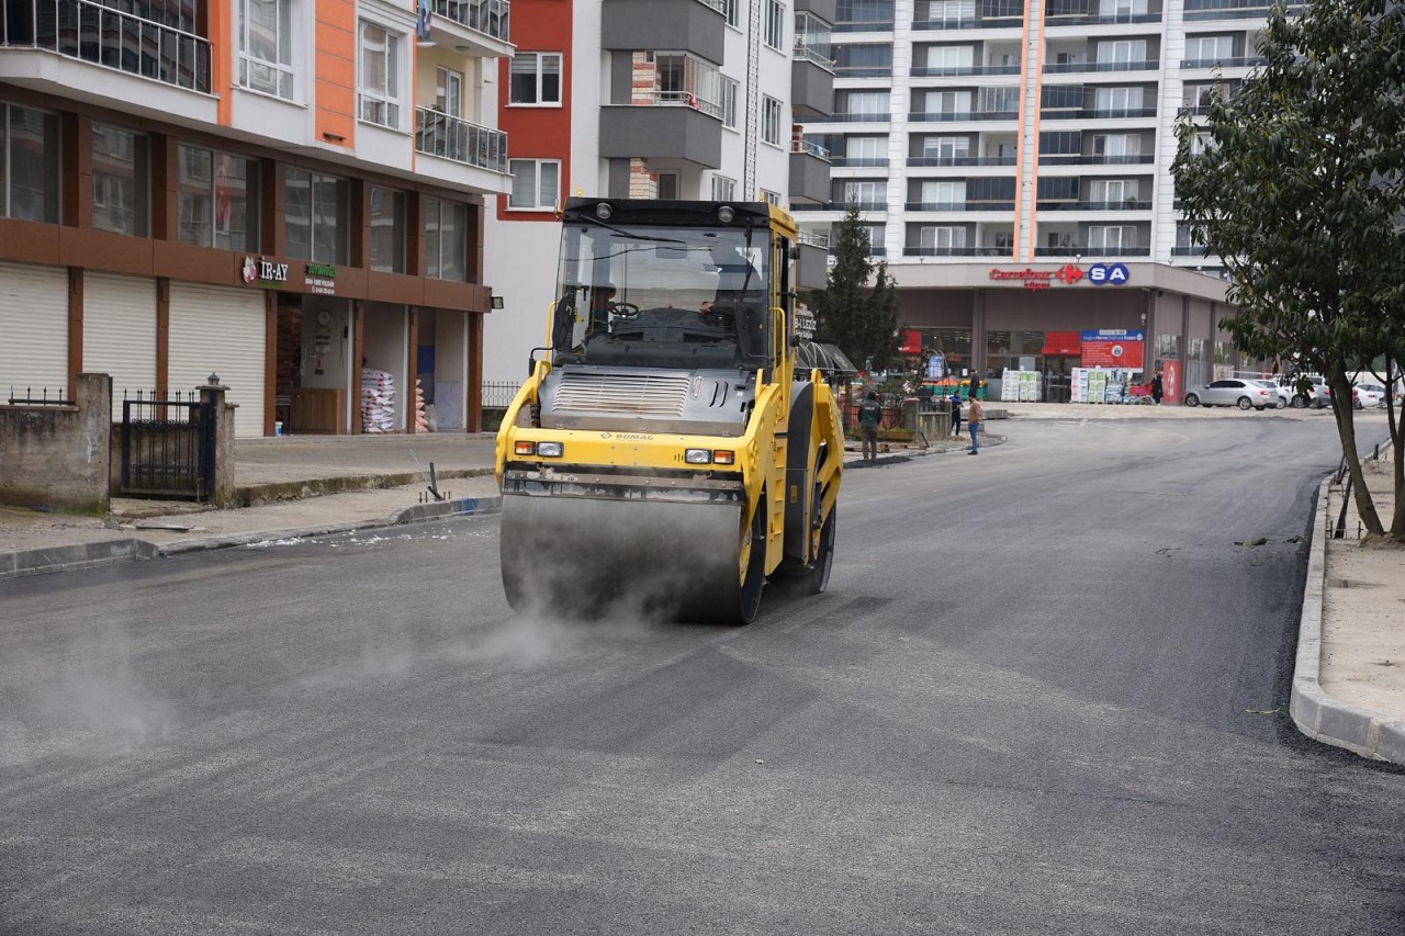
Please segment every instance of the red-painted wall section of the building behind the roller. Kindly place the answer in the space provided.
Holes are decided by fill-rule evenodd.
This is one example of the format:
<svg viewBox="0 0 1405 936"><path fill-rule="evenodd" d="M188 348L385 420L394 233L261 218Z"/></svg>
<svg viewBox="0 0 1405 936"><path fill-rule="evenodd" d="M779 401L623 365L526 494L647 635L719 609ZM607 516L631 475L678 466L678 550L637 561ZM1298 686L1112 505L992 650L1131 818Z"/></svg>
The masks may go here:
<svg viewBox="0 0 1405 936"><path fill-rule="evenodd" d="M575 0L513 0L513 45L523 52L561 52L561 107L514 107L510 96L510 59L497 66L499 128L507 134L513 159L559 159L561 197L570 188L570 98ZM507 197L497 198L500 221L551 221L551 212L507 211Z"/></svg>

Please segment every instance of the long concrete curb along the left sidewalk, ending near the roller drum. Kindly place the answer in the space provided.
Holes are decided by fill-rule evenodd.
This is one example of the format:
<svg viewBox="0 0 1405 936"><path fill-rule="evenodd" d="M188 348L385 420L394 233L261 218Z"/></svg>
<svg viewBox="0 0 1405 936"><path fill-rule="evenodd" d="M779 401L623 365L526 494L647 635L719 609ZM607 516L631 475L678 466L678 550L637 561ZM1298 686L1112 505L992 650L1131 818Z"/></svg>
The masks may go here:
<svg viewBox="0 0 1405 936"><path fill-rule="evenodd" d="M423 523L443 517L471 516L479 513L497 513L502 510L502 496L493 498L457 498L440 503L419 503L403 510L398 510L389 517L378 520L355 520L350 523L322 523L309 527L292 527L287 530L259 530L251 533L230 533L214 537L192 537L177 540L164 545L157 545L148 540L124 538L105 540L101 542L81 542L77 545L52 547L46 550L24 550L20 552L0 552L0 582L25 575L42 575L46 572L66 572L70 569L91 569L118 562L135 562L138 559L159 559L167 555L184 552L200 552L204 550L225 550L229 547L250 545L253 542L267 542L268 540L292 540L303 537L322 537L334 533L353 533L355 530L374 530L381 527L395 527L407 523Z"/></svg>

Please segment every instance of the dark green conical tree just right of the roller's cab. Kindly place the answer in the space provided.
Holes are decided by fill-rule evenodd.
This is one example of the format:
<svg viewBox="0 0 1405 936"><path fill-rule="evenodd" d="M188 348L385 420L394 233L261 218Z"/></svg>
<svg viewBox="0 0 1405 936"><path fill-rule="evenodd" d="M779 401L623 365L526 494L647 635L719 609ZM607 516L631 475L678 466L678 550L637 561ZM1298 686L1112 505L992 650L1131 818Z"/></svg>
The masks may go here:
<svg viewBox="0 0 1405 936"><path fill-rule="evenodd" d="M868 259L868 233L857 207L839 223L833 253L825 288L806 297L815 329L856 365L882 368L896 351L898 288L888 264L875 270Z"/></svg>

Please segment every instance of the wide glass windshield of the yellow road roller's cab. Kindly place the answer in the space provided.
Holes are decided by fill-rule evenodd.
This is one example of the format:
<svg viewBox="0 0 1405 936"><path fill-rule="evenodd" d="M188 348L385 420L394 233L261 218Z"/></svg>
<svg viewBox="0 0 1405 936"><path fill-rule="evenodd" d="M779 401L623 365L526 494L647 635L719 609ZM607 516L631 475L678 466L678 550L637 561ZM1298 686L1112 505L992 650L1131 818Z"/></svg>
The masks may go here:
<svg viewBox="0 0 1405 936"><path fill-rule="evenodd" d="M764 365L770 256L767 229L573 219L562 228L556 363Z"/></svg>

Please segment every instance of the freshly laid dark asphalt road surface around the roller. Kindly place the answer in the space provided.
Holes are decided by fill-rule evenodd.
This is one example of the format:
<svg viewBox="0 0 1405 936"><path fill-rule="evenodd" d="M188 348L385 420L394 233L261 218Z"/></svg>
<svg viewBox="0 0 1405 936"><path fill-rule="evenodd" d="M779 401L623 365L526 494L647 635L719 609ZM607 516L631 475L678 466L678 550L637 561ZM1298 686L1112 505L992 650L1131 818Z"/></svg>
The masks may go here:
<svg viewBox="0 0 1405 936"><path fill-rule="evenodd" d="M998 429L746 628L514 617L495 517L0 583L0 933L1405 932L1286 714L1331 420Z"/></svg>

